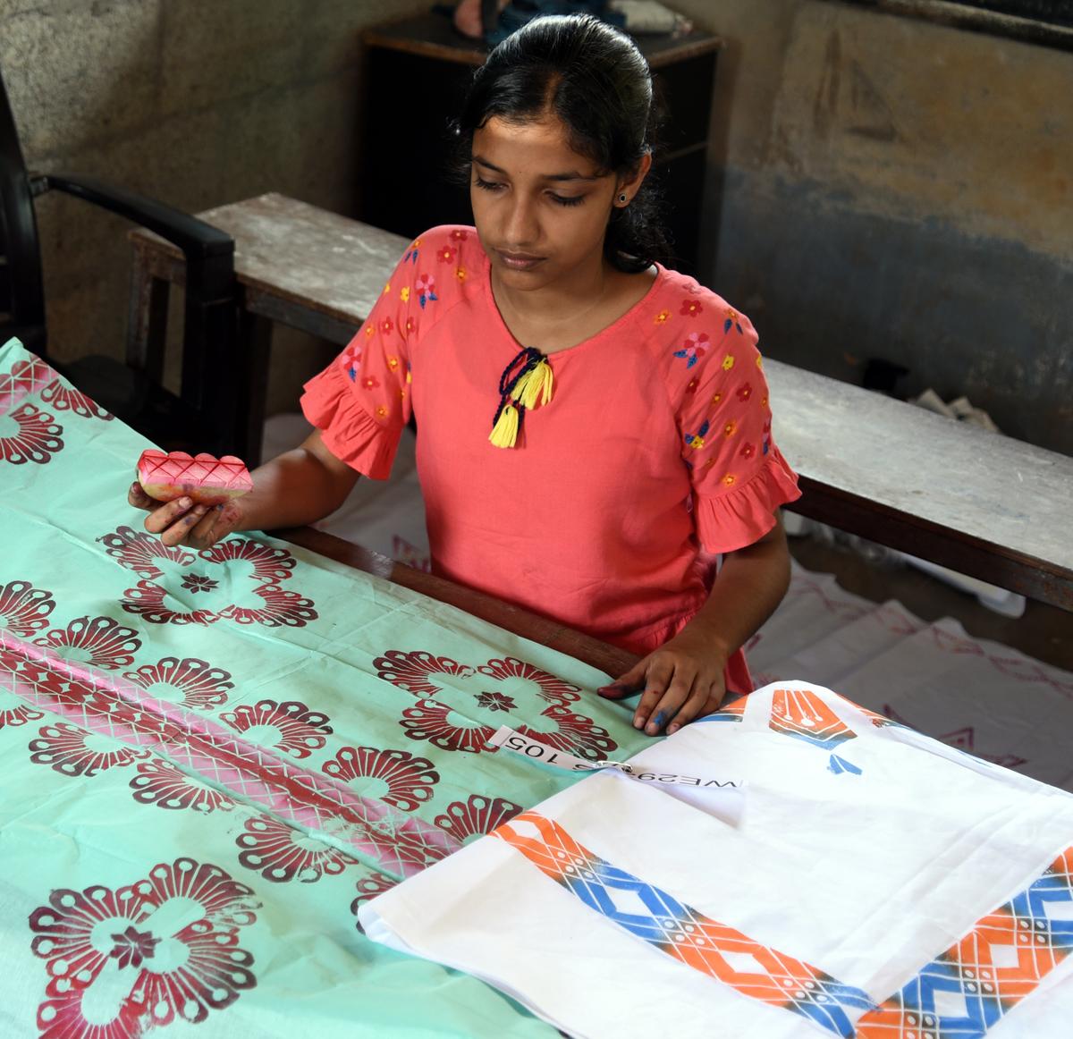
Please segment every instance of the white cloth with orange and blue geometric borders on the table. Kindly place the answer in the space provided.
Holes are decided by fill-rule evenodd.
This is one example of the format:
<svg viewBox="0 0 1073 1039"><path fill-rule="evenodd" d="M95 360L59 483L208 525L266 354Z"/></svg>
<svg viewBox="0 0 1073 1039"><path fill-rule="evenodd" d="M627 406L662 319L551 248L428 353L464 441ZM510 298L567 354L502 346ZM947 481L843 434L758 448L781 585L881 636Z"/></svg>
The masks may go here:
<svg viewBox="0 0 1073 1039"><path fill-rule="evenodd" d="M1069 1034L1073 795L799 682L633 763L745 778L740 824L600 773L367 903L367 934L586 1039Z"/></svg>

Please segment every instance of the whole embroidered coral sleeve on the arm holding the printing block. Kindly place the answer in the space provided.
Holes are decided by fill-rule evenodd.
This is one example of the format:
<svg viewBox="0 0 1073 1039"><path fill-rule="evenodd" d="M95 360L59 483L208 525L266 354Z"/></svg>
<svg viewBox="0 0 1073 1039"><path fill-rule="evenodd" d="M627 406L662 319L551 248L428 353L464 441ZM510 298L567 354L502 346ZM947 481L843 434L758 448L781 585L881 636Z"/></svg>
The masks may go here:
<svg viewBox="0 0 1073 1039"><path fill-rule="evenodd" d="M436 228L416 238L357 335L304 387L302 410L325 447L373 480L391 474L410 420L414 349L462 277L461 251L471 234Z"/></svg>

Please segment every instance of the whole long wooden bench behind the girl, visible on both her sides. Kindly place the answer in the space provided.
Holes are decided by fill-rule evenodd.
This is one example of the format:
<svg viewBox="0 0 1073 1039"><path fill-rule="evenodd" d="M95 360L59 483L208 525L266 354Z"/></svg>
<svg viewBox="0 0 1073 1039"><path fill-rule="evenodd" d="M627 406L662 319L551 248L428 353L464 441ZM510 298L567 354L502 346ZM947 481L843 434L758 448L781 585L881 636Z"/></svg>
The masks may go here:
<svg viewBox="0 0 1073 1039"><path fill-rule="evenodd" d="M199 214L235 239L247 458L260 455L271 323L337 343L361 326L408 239L266 194ZM182 257L131 233L134 356L162 356ZM162 362L161 362L162 363ZM793 511L1073 610L1073 459L766 361L776 438L802 478Z"/></svg>

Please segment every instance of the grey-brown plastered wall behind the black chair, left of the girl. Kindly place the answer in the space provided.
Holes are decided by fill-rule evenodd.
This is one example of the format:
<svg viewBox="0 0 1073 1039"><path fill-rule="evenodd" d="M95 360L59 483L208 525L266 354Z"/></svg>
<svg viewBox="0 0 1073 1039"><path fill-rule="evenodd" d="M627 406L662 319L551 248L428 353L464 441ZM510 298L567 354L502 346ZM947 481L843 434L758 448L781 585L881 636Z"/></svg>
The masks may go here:
<svg viewBox="0 0 1073 1039"><path fill-rule="evenodd" d="M359 190L361 31L426 8L0 0L0 68L31 169L94 174L189 211L279 191L350 213ZM36 211L53 351L121 356L129 224L57 193L40 197ZM293 410L300 382L332 352L278 333L269 409Z"/></svg>

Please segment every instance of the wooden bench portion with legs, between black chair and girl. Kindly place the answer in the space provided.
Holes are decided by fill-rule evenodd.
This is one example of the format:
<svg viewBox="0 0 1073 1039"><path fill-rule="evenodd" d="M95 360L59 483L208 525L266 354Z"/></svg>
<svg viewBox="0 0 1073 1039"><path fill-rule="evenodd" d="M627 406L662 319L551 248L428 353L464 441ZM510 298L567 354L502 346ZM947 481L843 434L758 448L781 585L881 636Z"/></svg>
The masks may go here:
<svg viewBox="0 0 1073 1039"><path fill-rule="evenodd" d="M236 452L253 465L261 456L264 398L273 322L340 346L361 327L407 238L289 199L264 194L197 215L235 239L239 334L246 396ZM182 253L148 231L129 235L134 247L127 355L160 379L164 365L167 297L183 284Z"/></svg>

